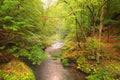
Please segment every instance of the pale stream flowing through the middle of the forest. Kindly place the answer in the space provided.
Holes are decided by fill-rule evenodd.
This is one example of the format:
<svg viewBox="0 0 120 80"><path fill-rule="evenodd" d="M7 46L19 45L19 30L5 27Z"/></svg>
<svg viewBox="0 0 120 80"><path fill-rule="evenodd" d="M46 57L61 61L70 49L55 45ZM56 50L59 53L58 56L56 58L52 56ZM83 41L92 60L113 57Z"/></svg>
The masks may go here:
<svg viewBox="0 0 120 80"><path fill-rule="evenodd" d="M45 52L49 58L41 65L31 66L36 80L84 80L78 79L77 75L71 70L64 68L60 59L54 59L51 54L57 54L61 52L61 47L64 44L56 42L51 47L48 47Z"/></svg>

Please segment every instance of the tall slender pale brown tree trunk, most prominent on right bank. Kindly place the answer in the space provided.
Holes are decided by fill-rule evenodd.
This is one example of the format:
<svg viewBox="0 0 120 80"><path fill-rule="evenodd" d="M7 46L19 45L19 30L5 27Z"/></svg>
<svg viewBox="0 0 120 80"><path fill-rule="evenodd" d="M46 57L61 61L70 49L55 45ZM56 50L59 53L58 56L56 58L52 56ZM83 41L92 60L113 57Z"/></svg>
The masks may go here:
<svg viewBox="0 0 120 80"><path fill-rule="evenodd" d="M98 53L96 56L97 63L100 63L100 53L101 53L101 45L100 44L101 44L102 29L103 29L104 7L105 7L105 4L103 2L103 5L101 7L101 15L100 15L99 46L98 46Z"/></svg>

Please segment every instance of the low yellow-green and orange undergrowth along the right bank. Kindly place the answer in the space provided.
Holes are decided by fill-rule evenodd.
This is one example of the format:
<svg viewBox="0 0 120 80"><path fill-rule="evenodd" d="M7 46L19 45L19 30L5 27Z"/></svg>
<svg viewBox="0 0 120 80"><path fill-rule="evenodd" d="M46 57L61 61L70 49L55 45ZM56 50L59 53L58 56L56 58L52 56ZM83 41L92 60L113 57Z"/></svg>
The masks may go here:
<svg viewBox="0 0 120 80"><path fill-rule="evenodd" d="M71 63L76 64L78 71L82 71L88 75L86 76L87 80L120 80L120 62L112 58L110 58L110 60L106 58L111 54L111 52L105 53L106 49L103 48L106 47L106 44L100 43L102 48L99 52L99 64L96 60L99 47L99 41L97 39L88 38L87 42L80 44L80 46L78 49L77 43L73 41L68 42L68 44L63 47L63 65L68 63L69 65ZM110 51L112 51L112 49Z"/></svg>

